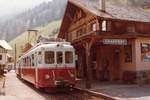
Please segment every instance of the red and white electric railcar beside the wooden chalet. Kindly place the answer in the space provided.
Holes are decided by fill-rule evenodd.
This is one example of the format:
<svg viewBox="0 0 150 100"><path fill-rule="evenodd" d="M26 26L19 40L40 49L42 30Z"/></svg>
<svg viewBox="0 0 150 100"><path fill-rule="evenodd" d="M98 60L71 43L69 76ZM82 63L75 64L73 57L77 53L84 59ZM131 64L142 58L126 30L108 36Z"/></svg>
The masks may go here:
<svg viewBox="0 0 150 100"><path fill-rule="evenodd" d="M74 87L75 50L69 42L39 43L20 57L17 76L36 88Z"/></svg>

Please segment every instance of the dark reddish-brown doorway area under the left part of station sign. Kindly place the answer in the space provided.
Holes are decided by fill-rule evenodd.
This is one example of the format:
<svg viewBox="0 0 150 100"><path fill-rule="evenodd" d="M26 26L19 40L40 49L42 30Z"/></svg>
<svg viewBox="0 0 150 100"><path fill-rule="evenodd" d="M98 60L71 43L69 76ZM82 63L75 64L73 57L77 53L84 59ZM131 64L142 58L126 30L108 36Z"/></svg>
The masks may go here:
<svg viewBox="0 0 150 100"><path fill-rule="evenodd" d="M100 80L120 80L120 46L104 45L100 50Z"/></svg>

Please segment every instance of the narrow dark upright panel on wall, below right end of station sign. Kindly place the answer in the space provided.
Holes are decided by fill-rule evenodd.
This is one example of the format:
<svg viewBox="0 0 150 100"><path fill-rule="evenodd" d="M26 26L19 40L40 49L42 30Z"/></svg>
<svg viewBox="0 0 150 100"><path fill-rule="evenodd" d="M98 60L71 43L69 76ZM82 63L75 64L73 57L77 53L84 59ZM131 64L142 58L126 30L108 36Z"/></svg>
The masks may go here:
<svg viewBox="0 0 150 100"><path fill-rule="evenodd" d="M125 46L125 62L132 62L132 46L127 45Z"/></svg>

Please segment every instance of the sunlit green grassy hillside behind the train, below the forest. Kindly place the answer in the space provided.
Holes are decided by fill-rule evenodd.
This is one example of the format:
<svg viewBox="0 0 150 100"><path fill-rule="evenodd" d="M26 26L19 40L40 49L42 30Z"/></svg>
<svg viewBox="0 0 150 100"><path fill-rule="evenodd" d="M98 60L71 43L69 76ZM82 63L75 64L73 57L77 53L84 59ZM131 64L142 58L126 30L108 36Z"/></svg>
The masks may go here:
<svg viewBox="0 0 150 100"><path fill-rule="evenodd" d="M46 26L37 27L35 29L38 30L38 36L39 35L43 35L43 36L53 35L54 36L54 35L57 35L58 30L60 28L60 24L61 24L60 20L59 21L53 21ZM35 39L38 38L38 36L35 36L35 34L31 34L29 37L29 40L30 40L29 42L34 44ZM28 32L24 32L21 35L17 36L12 41L10 41L10 45L13 47L13 50L14 50L15 44L16 44L17 57L19 57L22 54L21 48L27 42L28 42ZM14 51L12 54L14 54Z"/></svg>

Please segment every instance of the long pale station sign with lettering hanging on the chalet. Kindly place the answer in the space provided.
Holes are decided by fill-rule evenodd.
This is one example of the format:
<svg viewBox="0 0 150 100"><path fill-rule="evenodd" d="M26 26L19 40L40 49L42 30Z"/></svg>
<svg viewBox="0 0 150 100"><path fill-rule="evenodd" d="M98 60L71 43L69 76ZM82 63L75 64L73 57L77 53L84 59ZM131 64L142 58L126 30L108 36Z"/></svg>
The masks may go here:
<svg viewBox="0 0 150 100"><path fill-rule="evenodd" d="M103 39L103 44L109 45L127 45L128 41L126 39Z"/></svg>

